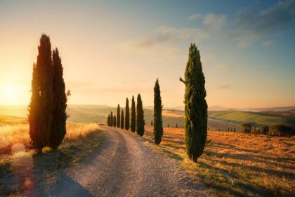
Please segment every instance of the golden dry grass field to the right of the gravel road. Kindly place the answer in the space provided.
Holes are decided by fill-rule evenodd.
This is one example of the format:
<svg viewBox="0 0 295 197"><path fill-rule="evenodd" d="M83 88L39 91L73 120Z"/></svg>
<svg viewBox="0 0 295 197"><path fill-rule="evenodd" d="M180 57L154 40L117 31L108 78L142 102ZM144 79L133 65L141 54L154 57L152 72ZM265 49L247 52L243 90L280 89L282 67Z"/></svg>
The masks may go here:
<svg viewBox="0 0 295 197"><path fill-rule="evenodd" d="M152 141L152 127L144 138ZM185 152L183 129L164 128L158 151L176 159L211 196L295 196L295 139L209 132L198 163Z"/></svg>

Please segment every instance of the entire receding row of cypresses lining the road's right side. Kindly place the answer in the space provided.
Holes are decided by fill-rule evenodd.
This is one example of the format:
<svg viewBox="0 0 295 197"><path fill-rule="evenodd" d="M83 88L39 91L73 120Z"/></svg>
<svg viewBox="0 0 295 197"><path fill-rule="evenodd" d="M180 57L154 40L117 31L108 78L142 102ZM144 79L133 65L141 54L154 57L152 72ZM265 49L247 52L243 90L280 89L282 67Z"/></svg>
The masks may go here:
<svg viewBox="0 0 295 197"><path fill-rule="evenodd" d="M199 50L197 49L197 46L195 46L195 44L190 44L188 63L185 68L185 80L183 80L182 78L180 78L180 80L185 84L184 103L186 152L191 160L197 162L197 158L202 155L204 151L204 146L206 144L208 106L206 103L205 77L202 70L201 57L199 55ZM126 112L127 103L128 98L126 100ZM119 116L119 105L117 114L117 116ZM109 116L110 117L108 117L108 125L112 126L112 113ZM125 121L127 121L127 114ZM159 89L159 80L156 80L154 87L154 120L152 122L155 144L160 144L162 141L162 124L163 121L161 91ZM127 124L125 123L125 127L126 125ZM140 136L142 136L144 133L144 125L145 122L143 118L143 103L141 101L140 94L138 94L136 108L134 97L132 97L131 101L131 131L135 132L136 130L136 132ZM126 127L126 129L127 128L129 129L129 127Z"/></svg>

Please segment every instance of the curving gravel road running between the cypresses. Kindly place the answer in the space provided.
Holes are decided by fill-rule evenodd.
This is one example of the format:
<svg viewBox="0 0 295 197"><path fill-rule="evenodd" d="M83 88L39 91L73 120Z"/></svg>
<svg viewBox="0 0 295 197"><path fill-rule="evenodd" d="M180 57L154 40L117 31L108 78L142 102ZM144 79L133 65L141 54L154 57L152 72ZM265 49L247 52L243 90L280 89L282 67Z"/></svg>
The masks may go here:
<svg viewBox="0 0 295 197"><path fill-rule="evenodd" d="M200 187L171 158L127 131L104 129L98 151L63 172L47 191L37 188L29 196L199 196Z"/></svg>

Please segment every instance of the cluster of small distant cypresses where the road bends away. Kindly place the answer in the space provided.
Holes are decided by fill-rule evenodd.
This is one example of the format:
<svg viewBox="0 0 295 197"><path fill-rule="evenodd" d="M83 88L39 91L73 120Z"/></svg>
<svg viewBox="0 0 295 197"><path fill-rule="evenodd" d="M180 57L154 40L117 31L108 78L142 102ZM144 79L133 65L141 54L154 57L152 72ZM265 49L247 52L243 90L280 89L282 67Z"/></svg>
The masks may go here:
<svg viewBox="0 0 295 197"><path fill-rule="evenodd" d="M137 96L137 105L135 104L134 96L132 96L131 118L129 116L129 99L126 98L125 117L124 117L124 110L121 110L121 113L120 113L120 105L118 104L117 117L115 115L113 116L111 111L111 113L107 115L107 126L118 127L121 129L125 128L126 130L129 130L130 128L131 132L136 131L138 135L143 136L145 132L145 117L143 113L143 101L141 100L140 94L138 94Z"/></svg>

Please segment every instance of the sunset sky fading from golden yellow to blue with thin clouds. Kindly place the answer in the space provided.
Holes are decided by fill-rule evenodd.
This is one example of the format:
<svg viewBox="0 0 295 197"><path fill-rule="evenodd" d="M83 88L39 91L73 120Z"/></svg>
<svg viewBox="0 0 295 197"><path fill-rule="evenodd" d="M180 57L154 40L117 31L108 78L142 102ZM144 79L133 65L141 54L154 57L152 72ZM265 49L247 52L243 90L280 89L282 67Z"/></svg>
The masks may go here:
<svg viewBox="0 0 295 197"><path fill-rule="evenodd" d="M69 104L183 106L188 48L209 106L295 106L295 0L0 0L0 104L27 105L41 34L58 47Z"/></svg>

